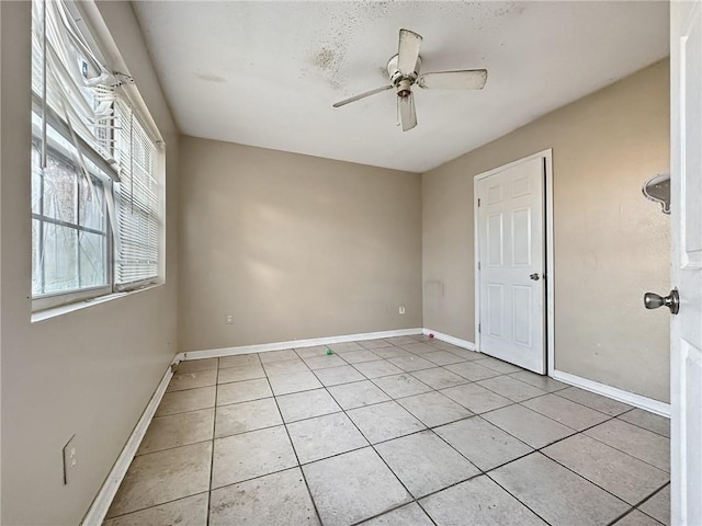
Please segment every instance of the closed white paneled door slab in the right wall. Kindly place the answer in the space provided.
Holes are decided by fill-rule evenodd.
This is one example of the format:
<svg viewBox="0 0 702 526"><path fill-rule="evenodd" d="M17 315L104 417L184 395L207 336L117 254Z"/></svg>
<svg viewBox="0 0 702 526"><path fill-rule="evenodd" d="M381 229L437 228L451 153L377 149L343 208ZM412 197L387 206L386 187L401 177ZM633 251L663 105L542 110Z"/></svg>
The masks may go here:
<svg viewBox="0 0 702 526"><path fill-rule="evenodd" d="M477 179L479 351L545 374L544 158Z"/></svg>

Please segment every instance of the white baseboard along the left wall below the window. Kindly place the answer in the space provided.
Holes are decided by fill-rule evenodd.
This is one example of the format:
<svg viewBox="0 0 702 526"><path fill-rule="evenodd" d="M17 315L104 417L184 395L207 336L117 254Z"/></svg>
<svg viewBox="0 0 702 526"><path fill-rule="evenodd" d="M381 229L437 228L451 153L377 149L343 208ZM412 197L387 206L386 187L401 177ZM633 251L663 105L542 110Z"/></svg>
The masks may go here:
<svg viewBox="0 0 702 526"><path fill-rule="evenodd" d="M173 362L174 363L174 362ZM105 515L107 515L107 511L110 510L110 505L112 504L112 500L114 495L117 493L120 489L120 484L124 479L124 476L127 473L127 469L136 455L139 445L141 444L141 439L151 423L151 419L158 409L158 404L161 403L161 398L163 398L163 393L166 392L166 388L168 384L171 381L171 377L173 376L173 371L171 366L168 366L163 378L161 378L161 382L154 391L154 396L151 400L149 400L148 405L141 413L141 418L137 422L134 431L129 435L127 443L124 445L122 453L117 457L117 461L114 462L114 466L110 470L107 478L100 488L98 495L94 501L90 505L88 513L83 517L80 523L81 526L100 526L105 519Z"/></svg>

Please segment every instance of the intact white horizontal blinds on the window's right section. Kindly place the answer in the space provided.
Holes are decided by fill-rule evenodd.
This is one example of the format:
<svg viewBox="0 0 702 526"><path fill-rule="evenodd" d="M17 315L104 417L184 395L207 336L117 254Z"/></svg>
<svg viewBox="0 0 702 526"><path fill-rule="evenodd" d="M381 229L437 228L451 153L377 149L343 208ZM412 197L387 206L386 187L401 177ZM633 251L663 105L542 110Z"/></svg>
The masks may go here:
<svg viewBox="0 0 702 526"><path fill-rule="evenodd" d="M160 151L125 101L115 104L120 123L120 180L116 203L120 238L115 258L117 288L158 276Z"/></svg>

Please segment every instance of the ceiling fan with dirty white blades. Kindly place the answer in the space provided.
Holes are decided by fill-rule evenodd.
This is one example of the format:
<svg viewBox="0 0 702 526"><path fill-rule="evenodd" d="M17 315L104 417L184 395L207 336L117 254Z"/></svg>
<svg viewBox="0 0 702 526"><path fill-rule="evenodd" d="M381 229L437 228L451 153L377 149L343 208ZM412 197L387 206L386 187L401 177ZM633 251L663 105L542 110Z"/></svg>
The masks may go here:
<svg viewBox="0 0 702 526"><path fill-rule="evenodd" d="M403 132L417 126L417 113L411 87L417 84L427 90L482 90L487 81L487 69L464 69L460 71L435 71L419 75L421 58L419 48L421 35L409 30L399 30L399 45L397 55L387 62L390 83L366 91L359 95L337 102L333 107L343 106L360 101L366 96L395 88L397 90L397 106Z"/></svg>

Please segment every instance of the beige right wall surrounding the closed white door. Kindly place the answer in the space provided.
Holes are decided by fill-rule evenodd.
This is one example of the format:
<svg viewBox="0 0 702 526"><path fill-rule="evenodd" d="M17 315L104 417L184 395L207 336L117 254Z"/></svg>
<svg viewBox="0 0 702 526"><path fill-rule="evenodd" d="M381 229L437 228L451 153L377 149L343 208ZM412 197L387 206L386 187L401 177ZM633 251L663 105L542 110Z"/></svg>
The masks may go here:
<svg viewBox="0 0 702 526"><path fill-rule="evenodd" d="M669 217L642 184L669 172L669 65L646 68L422 178L424 327L474 334L473 179L553 148L555 366L668 401ZM443 288L443 295L441 289Z"/></svg>

